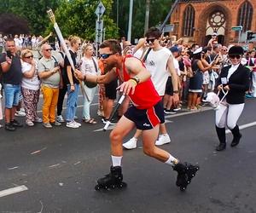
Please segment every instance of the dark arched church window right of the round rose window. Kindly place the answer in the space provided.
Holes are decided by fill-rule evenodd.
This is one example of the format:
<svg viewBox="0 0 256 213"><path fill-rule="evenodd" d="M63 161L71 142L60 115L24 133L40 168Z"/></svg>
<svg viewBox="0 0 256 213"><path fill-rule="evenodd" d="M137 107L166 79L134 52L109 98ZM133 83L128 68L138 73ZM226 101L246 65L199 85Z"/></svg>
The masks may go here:
<svg viewBox="0 0 256 213"><path fill-rule="evenodd" d="M244 2L238 11L238 26L242 26L242 31L246 32L251 29L251 23L253 20L253 6L249 2Z"/></svg>

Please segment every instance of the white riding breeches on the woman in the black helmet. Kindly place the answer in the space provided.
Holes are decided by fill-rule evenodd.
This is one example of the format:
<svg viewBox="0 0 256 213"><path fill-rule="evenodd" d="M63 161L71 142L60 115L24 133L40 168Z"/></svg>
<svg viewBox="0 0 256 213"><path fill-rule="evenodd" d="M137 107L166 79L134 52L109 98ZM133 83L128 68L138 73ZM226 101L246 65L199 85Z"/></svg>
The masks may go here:
<svg viewBox="0 0 256 213"><path fill-rule="evenodd" d="M242 104L228 104L225 100L219 105L219 108L215 112L215 124L218 128L224 128L225 125L230 130L236 127L238 118L241 116L241 112L244 108Z"/></svg>

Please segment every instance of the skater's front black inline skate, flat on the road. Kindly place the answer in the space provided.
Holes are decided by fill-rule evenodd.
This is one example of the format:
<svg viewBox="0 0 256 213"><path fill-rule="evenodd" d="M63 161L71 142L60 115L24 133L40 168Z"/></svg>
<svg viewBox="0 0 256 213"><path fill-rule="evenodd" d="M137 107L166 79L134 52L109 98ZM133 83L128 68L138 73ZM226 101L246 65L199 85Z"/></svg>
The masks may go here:
<svg viewBox="0 0 256 213"><path fill-rule="evenodd" d="M96 190L108 188L122 188L127 184L123 182L122 168L120 166L111 166L110 173L97 180Z"/></svg>

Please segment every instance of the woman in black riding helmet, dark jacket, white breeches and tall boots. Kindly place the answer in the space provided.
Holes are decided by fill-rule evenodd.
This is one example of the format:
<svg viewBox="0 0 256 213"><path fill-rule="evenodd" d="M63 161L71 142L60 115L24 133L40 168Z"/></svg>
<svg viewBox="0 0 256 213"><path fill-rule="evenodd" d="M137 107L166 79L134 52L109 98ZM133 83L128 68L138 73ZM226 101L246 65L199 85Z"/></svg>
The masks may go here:
<svg viewBox="0 0 256 213"><path fill-rule="evenodd" d="M243 53L241 46L233 46L229 49L228 55L231 65L222 68L217 80L217 88L220 91L219 99L224 96L223 89L225 92L228 91L215 113L216 132L219 140L219 145L216 147L217 151L226 148L225 124L233 135L231 147L236 147L241 139L241 133L236 123L241 116L245 92L249 89L250 83L250 71L241 65Z"/></svg>

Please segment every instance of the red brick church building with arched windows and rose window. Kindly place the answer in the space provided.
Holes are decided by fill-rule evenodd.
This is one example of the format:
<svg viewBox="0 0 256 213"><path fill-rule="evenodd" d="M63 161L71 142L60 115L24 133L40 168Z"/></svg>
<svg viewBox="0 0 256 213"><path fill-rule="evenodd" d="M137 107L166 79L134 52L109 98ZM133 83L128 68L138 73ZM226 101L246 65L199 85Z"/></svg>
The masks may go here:
<svg viewBox="0 0 256 213"><path fill-rule="evenodd" d="M172 35L189 43L205 45L213 32L219 43L237 43L239 32L233 26L242 26L241 34L256 32L256 0L180 0L171 23Z"/></svg>

